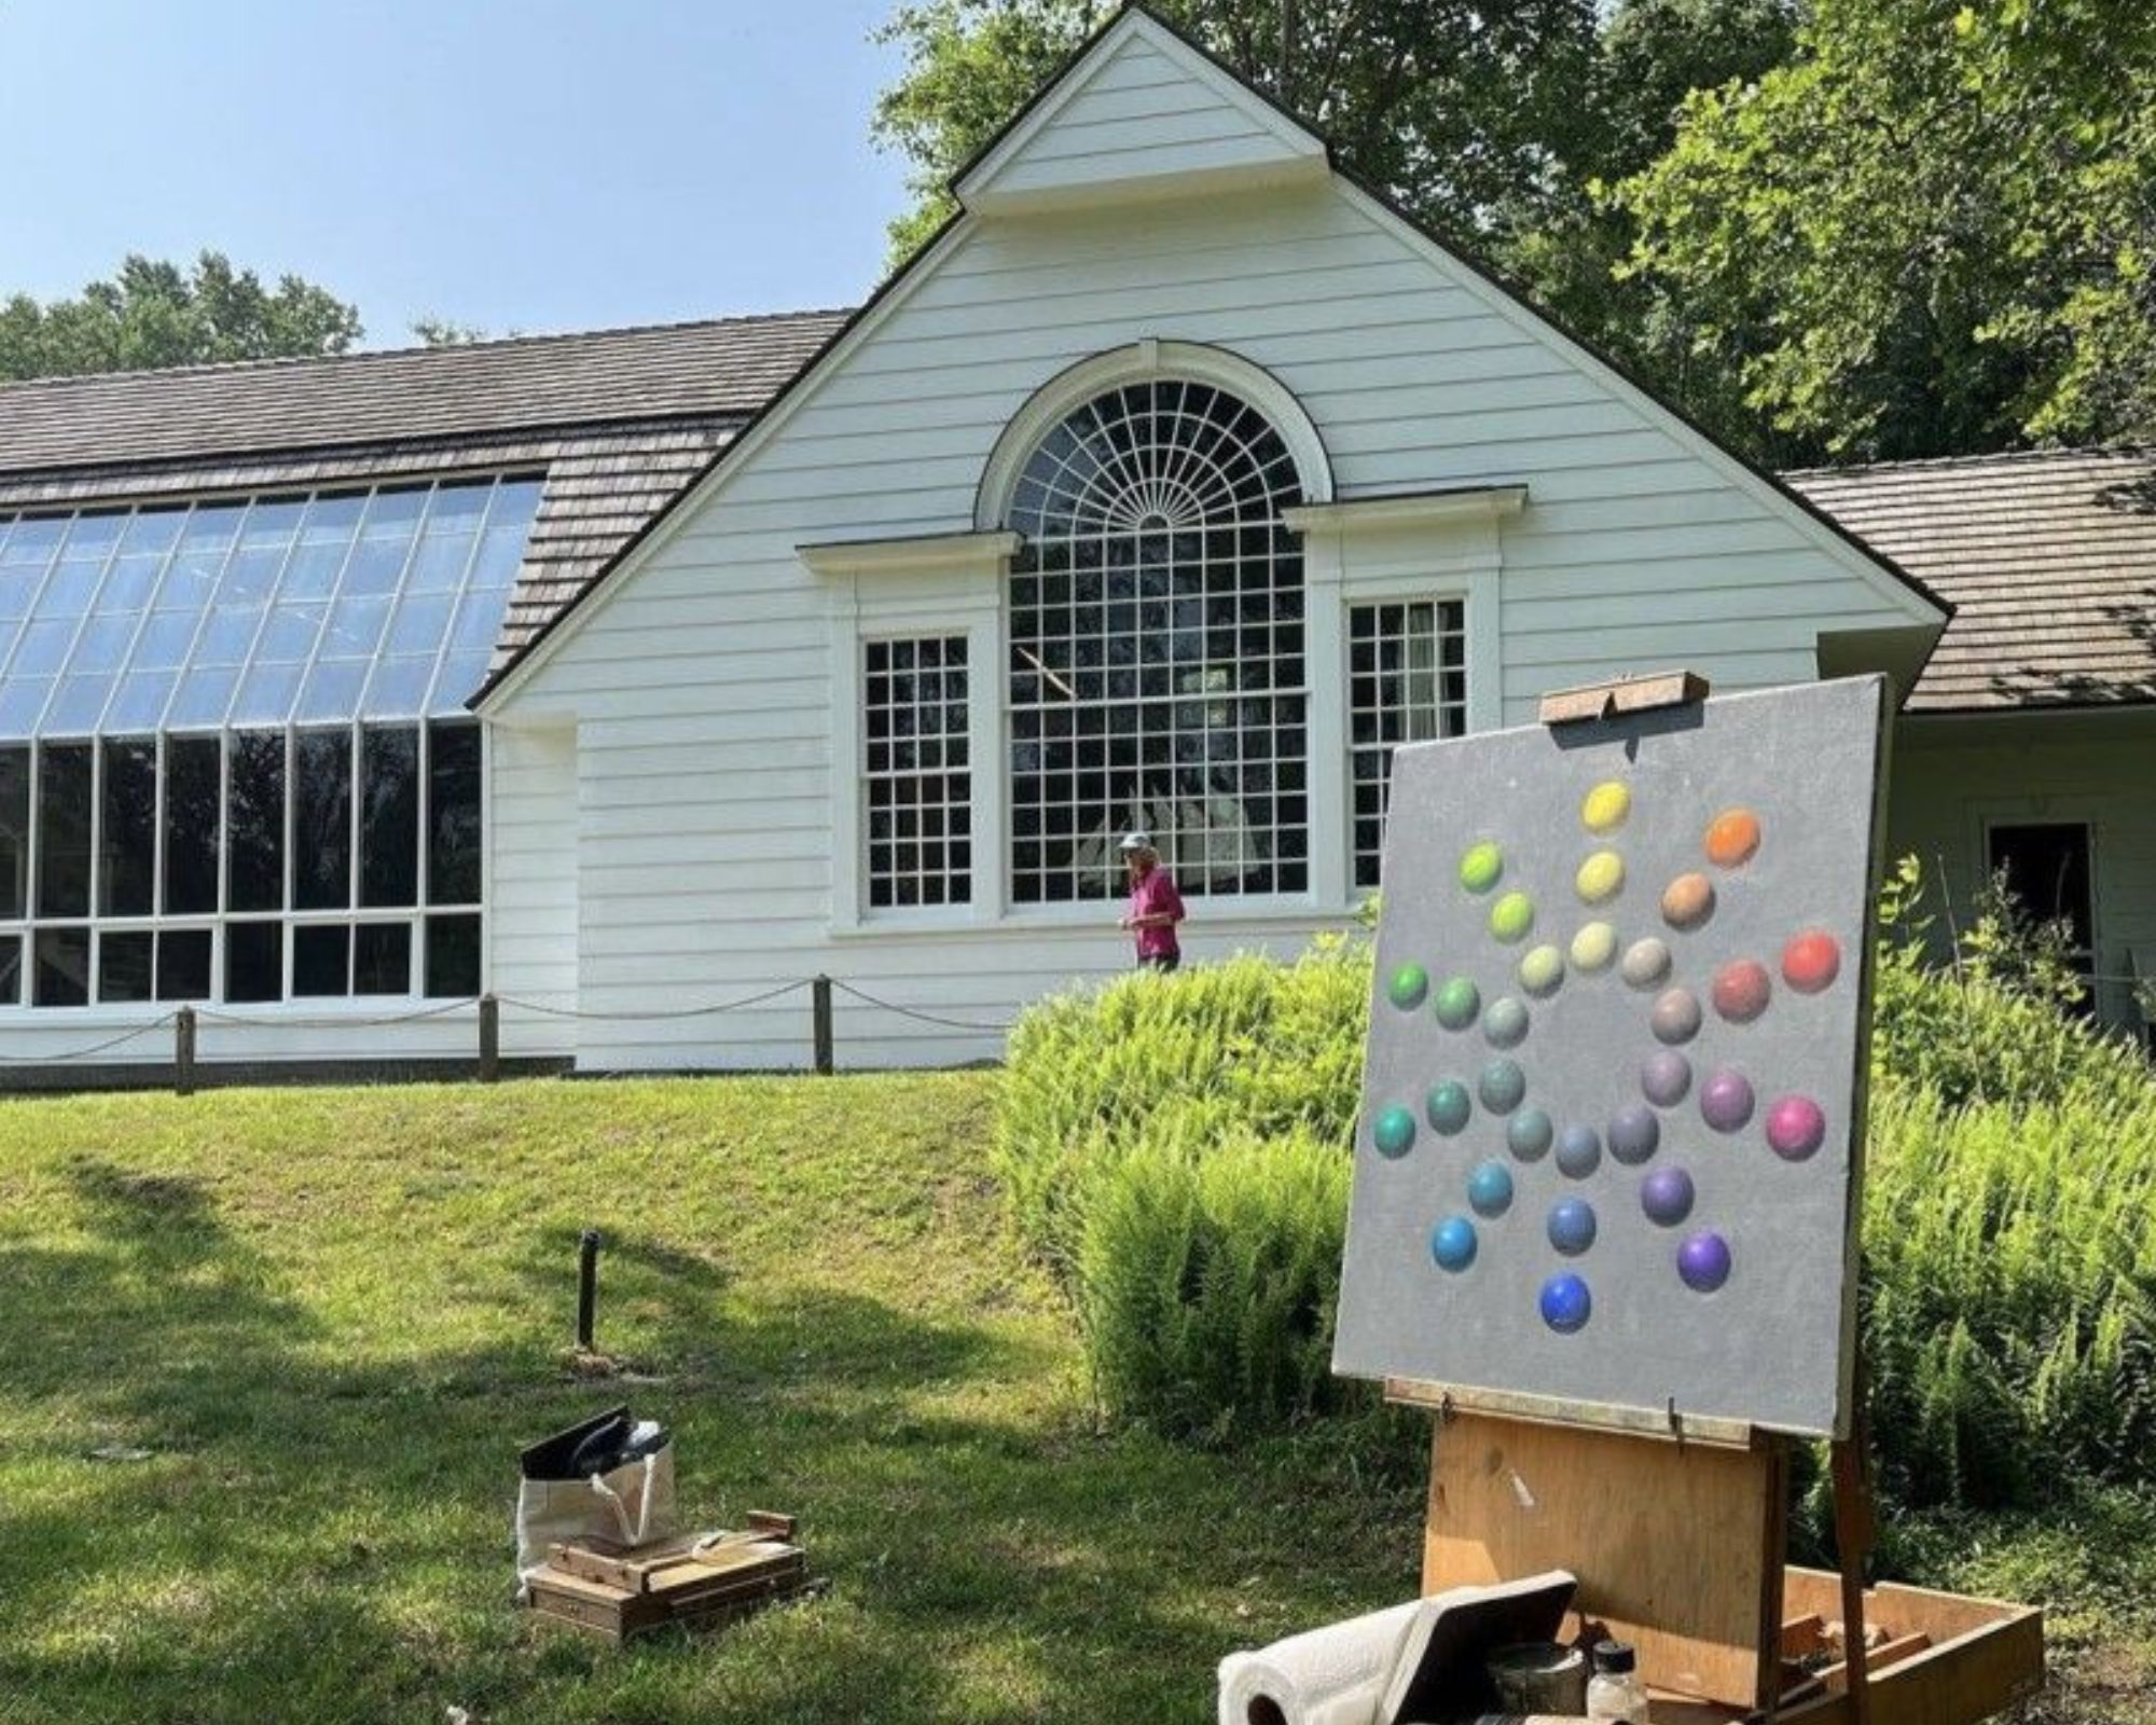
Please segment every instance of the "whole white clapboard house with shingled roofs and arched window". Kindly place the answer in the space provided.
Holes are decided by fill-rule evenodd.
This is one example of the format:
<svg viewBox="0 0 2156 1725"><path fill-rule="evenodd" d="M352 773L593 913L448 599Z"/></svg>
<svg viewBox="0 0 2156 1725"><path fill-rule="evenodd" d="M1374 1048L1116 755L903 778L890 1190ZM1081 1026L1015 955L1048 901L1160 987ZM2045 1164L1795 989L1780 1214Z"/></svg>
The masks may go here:
<svg viewBox="0 0 2156 1725"><path fill-rule="evenodd" d="M1378 884L1395 742L1884 671L1893 837L2156 947L2156 461L1757 472L1121 13L854 313L0 388L6 1072L992 1057ZM634 259L625 261L634 267ZM707 1011L733 1007L731 1011ZM63 1059L65 1057L65 1059Z"/></svg>

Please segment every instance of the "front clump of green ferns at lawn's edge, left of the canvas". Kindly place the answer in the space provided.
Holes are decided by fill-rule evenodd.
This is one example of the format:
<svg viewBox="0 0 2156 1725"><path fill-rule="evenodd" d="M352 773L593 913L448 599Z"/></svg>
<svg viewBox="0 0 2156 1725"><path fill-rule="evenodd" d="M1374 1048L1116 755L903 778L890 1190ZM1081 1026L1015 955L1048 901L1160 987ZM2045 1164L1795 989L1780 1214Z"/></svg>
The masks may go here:
<svg viewBox="0 0 2156 1725"><path fill-rule="evenodd" d="M1097 1173L1078 1309L1102 1402L1205 1440L1341 1406L1348 1175L1307 1132L1145 1145Z"/></svg>

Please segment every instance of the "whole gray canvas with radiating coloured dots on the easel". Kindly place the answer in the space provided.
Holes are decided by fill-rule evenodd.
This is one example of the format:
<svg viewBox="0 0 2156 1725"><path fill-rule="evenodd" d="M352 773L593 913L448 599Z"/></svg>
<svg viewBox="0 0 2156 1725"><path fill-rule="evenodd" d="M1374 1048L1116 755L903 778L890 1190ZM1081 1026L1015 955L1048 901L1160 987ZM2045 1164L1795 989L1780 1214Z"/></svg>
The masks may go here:
<svg viewBox="0 0 2156 1725"><path fill-rule="evenodd" d="M1399 750L1337 1371L1846 1434L1882 722Z"/></svg>

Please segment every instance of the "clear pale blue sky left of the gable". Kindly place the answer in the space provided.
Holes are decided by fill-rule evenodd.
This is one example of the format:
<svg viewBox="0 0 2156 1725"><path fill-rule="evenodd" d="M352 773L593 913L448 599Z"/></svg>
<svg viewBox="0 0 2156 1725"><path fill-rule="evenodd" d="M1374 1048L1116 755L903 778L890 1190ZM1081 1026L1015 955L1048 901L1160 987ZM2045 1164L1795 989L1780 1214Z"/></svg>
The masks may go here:
<svg viewBox="0 0 2156 1725"><path fill-rule="evenodd" d="M858 302L893 0L0 0L0 293L209 246L569 330Z"/></svg>

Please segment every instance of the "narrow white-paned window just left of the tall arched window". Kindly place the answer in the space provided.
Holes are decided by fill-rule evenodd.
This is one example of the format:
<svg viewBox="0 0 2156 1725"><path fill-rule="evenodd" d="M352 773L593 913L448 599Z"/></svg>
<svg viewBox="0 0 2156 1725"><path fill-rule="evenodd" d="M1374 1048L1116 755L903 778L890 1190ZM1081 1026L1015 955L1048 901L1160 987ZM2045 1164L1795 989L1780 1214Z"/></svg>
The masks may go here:
<svg viewBox="0 0 2156 1725"><path fill-rule="evenodd" d="M865 640L869 908L972 901L966 636Z"/></svg>

